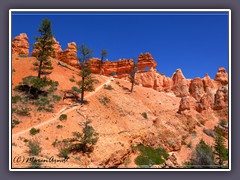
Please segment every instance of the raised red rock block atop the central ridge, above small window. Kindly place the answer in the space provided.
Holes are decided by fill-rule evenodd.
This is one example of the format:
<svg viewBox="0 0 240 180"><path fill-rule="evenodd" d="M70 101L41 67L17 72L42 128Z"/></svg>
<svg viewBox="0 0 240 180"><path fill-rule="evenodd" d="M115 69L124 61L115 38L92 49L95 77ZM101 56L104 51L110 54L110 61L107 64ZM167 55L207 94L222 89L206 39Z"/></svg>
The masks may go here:
<svg viewBox="0 0 240 180"><path fill-rule="evenodd" d="M156 68L157 63L154 61L150 53L141 53L138 57L138 69L140 71L145 71L146 67L148 67L149 69Z"/></svg>

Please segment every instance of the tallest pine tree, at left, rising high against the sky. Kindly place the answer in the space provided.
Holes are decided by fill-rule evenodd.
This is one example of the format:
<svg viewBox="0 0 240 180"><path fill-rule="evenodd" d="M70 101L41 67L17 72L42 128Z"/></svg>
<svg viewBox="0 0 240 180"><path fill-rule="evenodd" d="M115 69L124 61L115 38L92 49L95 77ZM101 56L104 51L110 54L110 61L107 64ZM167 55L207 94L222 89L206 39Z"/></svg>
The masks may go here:
<svg viewBox="0 0 240 180"><path fill-rule="evenodd" d="M42 74L50 74L50 70L53 69L49 59L54 53L51 22L48 19L43 19L38 32L40 36L35 38L34 48L37 50L36 58L39 62L35 62L34 66L37 66L38 78L41 78Z"/></svg>

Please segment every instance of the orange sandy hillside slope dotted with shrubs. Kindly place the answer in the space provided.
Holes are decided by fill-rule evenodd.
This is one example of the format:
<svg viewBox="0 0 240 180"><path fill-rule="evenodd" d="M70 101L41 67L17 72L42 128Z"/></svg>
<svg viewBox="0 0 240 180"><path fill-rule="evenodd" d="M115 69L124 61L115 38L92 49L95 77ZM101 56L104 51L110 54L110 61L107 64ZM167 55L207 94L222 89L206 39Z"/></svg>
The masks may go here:
<svg viewBox="0 0 240 180"><path fill-rule="evenodd" d="M13 58L13 87L23 77L36 74L31 70L34 60ZM71 77L79 80L78 72L58 66L56 60L53 60L53 65L54 71L50 78L59 82L58 92L62 95L62 90L68 90L76 84L69 80ZM30 117L18 117L22 123L12 130L13 157L28 156L27 143L23 140L32 138L29 130L35 127L40 129L40 133L35 135L41 142L40 157L58 158L59 149L53 147L53 142L71 137L74 131L81 132L86 119L92 120L91 125L99 134L94 151L89 156L79 153L71 155L66 163L45 163L43 167L136 167L136 154L133 153L132 146L137 144L164 147L175 154L178 164L182 164L189 160L192 149L200 139L203 138L208 144L214 143L212 137L203 133L204 128L213 129L219 122L219 117L213 112L179 115L177 111L180 98L172 93L141 86L135 86L134 92L129 93L131 84L126 80L99 75L94 75L94 78L98 82L94 85L95 91L85 96L88 104L80 106L65 100L55 104L53 113L32 112ZM105 84L110 84L113 90L103 88ZM99 99L102 97L107 97L109 103L101 103ZM147 119L142 116L144 112ZM68 116L66 121L59 120L63 113ZM199 124L201 120L205 121L205 125ZM63 128L59 129L57 125L62 125ZM191 144L191 147L187 146L188 144ZM13 167L27 166L26 163L13 163Z"/></svg>

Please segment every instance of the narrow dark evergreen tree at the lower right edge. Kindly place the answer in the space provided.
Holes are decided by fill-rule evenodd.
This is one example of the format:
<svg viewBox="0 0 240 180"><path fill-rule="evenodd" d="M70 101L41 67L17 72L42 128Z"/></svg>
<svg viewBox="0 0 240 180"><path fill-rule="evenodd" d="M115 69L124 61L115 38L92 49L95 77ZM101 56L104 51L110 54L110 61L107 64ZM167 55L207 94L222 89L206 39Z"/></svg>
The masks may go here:
<svg viewBox="0 0 240 180"><path fill-rule="evenodd" d="M218 165L222 166L223 161L228 159L228 150L224 145L223 132L219 126L215 127L215 145L214 150L217 155Z"/></svg>

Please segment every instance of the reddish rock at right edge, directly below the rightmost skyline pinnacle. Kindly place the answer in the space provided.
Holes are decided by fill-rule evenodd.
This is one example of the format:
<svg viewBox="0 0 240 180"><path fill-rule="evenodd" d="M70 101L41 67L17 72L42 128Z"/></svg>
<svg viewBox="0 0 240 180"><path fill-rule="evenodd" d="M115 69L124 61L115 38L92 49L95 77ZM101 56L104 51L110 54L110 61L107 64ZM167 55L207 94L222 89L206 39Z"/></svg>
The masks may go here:
<svg viewBox="0 0 240 180"><path fill-rule="evenodd" d="M214 98L214 109L221 110L228 107L228 87L223 86L219 88Z"/></svg>

